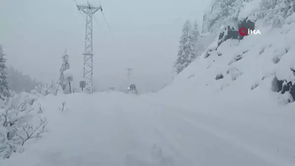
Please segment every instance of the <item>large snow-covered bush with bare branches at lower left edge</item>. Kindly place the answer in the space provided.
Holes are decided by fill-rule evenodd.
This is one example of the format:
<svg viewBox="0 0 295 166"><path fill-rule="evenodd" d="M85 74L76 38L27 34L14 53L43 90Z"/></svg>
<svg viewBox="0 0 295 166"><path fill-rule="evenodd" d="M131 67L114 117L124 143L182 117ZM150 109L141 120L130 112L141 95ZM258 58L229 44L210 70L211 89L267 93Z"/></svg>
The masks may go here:
<svg viewBox="0 0 295 166"><path fill-rule="evenodd" d="M0 159L24 151L22 146L46 132L37 96L21 93L9 98L0 109Z"/></svg>

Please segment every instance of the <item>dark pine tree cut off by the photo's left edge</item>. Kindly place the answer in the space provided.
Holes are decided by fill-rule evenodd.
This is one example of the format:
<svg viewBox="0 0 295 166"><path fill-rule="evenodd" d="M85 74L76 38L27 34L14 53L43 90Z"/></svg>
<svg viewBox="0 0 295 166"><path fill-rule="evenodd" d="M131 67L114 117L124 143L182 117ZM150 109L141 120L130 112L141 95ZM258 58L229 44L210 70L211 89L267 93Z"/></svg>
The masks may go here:
<svg viewBox="0 0 295 166"><path fill-rule="evenodd" d="M0 45L0 99L5 100L7 97L10 97L9 87L7 84L7 73L6 73L6 59L4 58L5 54L2 50L2 45Z"/></svg>

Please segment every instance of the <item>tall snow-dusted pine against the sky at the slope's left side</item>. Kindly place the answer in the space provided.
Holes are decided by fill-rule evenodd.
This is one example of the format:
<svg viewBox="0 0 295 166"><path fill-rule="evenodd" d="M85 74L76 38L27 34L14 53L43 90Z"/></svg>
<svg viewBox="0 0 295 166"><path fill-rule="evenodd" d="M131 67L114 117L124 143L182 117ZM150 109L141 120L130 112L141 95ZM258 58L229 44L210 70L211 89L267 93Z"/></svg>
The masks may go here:
<svg viewBox="0 0 295 166"><path fill-rule="evenodd" d="M194 47L192 25L190 21L187 20L183 25L182 35L179 40L179 51L177 54L177 61L175 62L177 74L195 59Z"/></svg>

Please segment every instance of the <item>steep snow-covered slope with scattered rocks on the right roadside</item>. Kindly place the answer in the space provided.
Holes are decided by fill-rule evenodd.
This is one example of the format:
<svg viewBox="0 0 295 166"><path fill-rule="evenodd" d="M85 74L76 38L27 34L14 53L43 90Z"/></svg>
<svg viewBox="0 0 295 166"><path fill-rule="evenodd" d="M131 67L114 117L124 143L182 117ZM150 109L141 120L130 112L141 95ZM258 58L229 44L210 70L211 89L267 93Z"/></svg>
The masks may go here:
<svg viewBox="0 0 295 166"><path fill-rule="evenodd" d="M258 27L261 35L248 35L243 40L228 39L219 47L217 38L200 58L159 94L181 98L188 94L194 95L194 98L199 95L232 94L241 98L245 93L259 92L273 100L281 98L280 93L273 92L276 88L273 79L293 81L294 84L294 19L295 13L286 19L282 28L271 30ZM292 102L290 93L284 94ZM286 100L282 101L286 103Z"/></svg>

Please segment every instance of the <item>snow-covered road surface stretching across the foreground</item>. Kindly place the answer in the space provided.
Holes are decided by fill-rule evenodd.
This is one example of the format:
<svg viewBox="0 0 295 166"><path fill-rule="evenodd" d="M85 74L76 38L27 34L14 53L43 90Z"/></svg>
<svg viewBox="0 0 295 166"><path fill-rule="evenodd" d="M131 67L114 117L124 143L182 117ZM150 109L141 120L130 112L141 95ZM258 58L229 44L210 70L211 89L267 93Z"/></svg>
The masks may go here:
<svg viewBox="0 0 295 166"><path fill-rule="evenodd" d="M74 94L57 117L49 100L50 132L7 166L295 166L294 126L273 120L284 116L249 123L106 93Z"/></svg>

